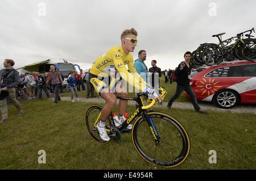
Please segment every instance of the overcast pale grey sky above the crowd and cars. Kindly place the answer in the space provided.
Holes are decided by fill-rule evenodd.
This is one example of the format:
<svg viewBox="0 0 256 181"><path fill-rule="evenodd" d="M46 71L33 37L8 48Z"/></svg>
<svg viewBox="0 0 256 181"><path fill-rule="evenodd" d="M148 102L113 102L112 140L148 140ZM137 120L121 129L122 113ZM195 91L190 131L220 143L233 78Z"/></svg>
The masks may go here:
<svg viewBox="0 0 256 181"><path fill-rule="evenodd" d="M121 45L122 31L131 27L138 31L134 60L144 49L148 68L156 60L162 70L174 69L184 52L217 43L212 35L226 32L228 39L256 28L256 1L1 0L0 59L11 58L20 68L64 58L89 69L98 56Z"/></svg>

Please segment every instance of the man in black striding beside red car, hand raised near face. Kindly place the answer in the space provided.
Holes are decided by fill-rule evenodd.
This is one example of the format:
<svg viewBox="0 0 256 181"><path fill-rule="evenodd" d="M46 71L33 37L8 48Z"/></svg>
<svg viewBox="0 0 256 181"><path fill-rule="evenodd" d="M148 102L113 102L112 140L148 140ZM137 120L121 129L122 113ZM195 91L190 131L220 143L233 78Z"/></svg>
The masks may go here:
<svg viewBox="0 0 256 181"><path fill-rule="evenodd" d="M177 89L176 89L175 95L169 100L167 108L171 109L172 103L177 98L179 98L180 94L183 91L186 91L188 93L188 95L191 96L191 100L192 100L192 103L193 103L193 106L194 106L196 112L207 113L205 111L200 110L200 107L196 100L196 95L193 92L192 87L189 85L189 82L191 79L191 76L190 76L190 74L191 74L191 62L190 62L191 56L192 56L191 52L186 52L184 54L185 61L183 61L183 62L181 62L181 64L179 64L179 66L175 72L175 74L177 75L177 80L176 80Z"/></svg>

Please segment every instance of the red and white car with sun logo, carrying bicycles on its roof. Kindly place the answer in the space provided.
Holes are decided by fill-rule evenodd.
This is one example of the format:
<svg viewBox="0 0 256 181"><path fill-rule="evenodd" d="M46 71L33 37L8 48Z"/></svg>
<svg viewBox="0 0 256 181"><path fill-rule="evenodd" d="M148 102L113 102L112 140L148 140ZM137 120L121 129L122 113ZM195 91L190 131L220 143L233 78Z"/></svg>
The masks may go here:
<svg viewBox="0 0 256 181"><path fill-rule="evenodd" d="M256 62L227 62L195 71L191 76L197 100L213 102L221 108L256 104Z"/></svg>

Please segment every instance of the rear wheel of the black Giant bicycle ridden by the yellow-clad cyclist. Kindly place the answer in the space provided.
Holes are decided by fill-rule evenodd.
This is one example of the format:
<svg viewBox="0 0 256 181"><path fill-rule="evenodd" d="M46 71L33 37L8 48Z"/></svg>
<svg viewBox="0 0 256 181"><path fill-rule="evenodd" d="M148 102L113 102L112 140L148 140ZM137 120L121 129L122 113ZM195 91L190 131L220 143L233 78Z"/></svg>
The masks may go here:
<svg viewBox="0 0 256 181"><path fill-rule="evenodd" d="M98 133L98 129L95 125L96 120L98 119L98 117L100 117L101 110L102 110L102 107L99 105L90 106L85 114L85 124L93 140L101 143L107 143L109 141L101 140L100 134ZM106 120L106 127L110 126L110 119L111 117L109 116L108 119Z"/></svg>

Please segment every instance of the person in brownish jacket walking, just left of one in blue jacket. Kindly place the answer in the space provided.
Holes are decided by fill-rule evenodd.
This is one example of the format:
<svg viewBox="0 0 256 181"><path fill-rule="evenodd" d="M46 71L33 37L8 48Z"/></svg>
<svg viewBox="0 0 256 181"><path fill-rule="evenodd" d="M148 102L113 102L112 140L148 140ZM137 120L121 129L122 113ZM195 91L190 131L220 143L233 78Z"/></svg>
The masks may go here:
<svg viewBox="0 0 256 181"><path fill-rule="evenodd" d="M61 78L59 71L55 70L55 65L50 66L49 81L52 82L52 88L54 90L54 95L55 95L53 104L56 105L61 100L59 95L59 90L60 90L60 86L63 85L63 79Z"/></svg>

